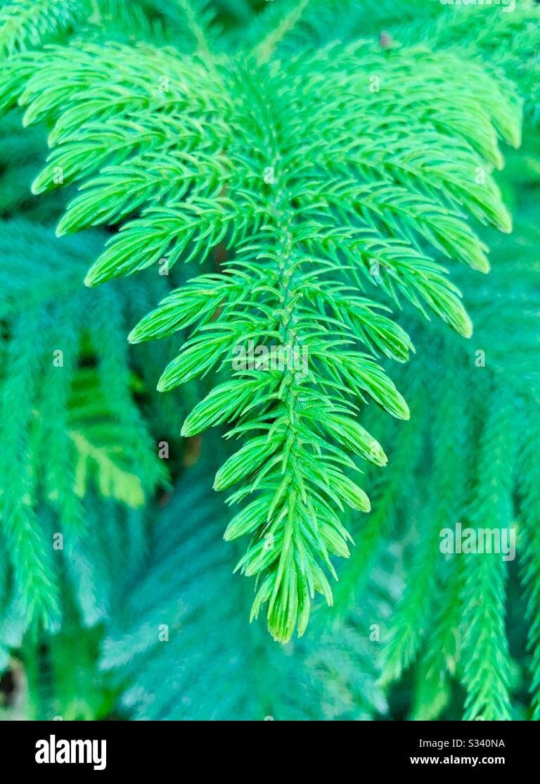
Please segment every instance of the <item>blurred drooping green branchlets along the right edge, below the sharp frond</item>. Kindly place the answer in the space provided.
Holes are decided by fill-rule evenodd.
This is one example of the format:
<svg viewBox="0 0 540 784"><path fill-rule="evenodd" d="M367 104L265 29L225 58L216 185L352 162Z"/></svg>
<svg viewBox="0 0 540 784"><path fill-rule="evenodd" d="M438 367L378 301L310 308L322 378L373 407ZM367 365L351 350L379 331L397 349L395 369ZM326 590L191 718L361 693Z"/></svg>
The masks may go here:
<svg viewBox="0 0 540 784"><path fill-rule="evenodd" d="M380 502L373 495L375 510L378 503L393 504L398 533L408 543L407 586L390 623L383 681L399 678L419 655L412 718L438 717L455 681L466 687L466 719L523 717L511 711L509 692L523 689L527 665L538 718L538 455L533 453L540 394L540 233L534 220L539 152L538 143L529 144L509 162L505 190L516 227L503 241L489 237L493 272L490 285L471 289L472 342L443 332L428 341L413 333L422 354L404 368L400 383L409 390L420 448L408 445L406 432L390 435L397 457L405 455L408 474L402 472L398 481L401 466L394 465L390 452L390 481ZM526 177L523 158L532 164ZM432 379L439 379L435 386ZM426 387L433 387L427 397ZM393 481L397 496L390 494ZM440 531L457 522L474 530L515 528L518 569L500 555L462 555L456 562L440 554ZM395 529L381 533L396 535ZM378 546L384 542L378 539ZM343 575L344 590L353 579ZM518 620L524 626L523 587L531 623L520 635L528 633L532 659L523 659L518 668L509 655L507 626ZM523 699L526 703L526 695Z"/></svg>

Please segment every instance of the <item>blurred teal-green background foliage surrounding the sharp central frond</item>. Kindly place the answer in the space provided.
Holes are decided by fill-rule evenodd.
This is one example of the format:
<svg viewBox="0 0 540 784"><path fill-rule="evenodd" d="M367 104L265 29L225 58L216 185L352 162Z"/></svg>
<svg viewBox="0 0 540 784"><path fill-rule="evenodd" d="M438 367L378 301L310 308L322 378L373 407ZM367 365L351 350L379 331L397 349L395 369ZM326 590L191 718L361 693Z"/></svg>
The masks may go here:
<svg viewBox="0 0 540 784"><path fill-rule="evenodd" d="M91 5L92 15L74 2L36 24L31 41L0 22L3 56L83 34L191 49L194 6L212 45L246 45L292 7ZM406 308L416 355L392 376L411 421L369 407L389 466L368 470L372 512L350 521L356 546L334 608L317 605L306 635L285 646L248 624L252 586L234 577L237 553L223 543L227 510L208 477L227 446L180 439L195 390L154 392L170 344L125 339L182 270L85 289L103 234L55 238L70 194L30 191L45 133L21 129L17 112L2 120L0 717L441 720L481 706L486 718L540 717L539 22L527 0L513 13L312 0L281 39L283 56L354 38L457 47L464 67L480 58L516 81L525 106L523 146L505 151L498 175L513 234L484 230L486 278L452 270L473 337ZM456 521L513 525L516 561L442 559L440 529ZM20 526L31 532L24 550Z"/></svg>

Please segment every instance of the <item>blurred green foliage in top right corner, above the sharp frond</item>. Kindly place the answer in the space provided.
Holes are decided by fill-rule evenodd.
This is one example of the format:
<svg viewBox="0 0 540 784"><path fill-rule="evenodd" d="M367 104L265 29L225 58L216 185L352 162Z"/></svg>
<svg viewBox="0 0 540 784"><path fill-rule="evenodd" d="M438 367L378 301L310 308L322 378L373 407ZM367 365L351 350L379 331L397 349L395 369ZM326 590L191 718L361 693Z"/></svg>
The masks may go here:
<svg viewBox="0 0 540 784"><path fill-rule="evenodd" d="M287 3L276 5L285 13ZM281 10L280 10L281 9ZM248 36L260 36L255 20ZM536 0L501 3L444 3L416 0L311 0L299 23L284 38L282 53L306 45L325 45L336 39L375 40L382 48L423 43L430 49L451 49L470 60L483 60L489 71L501 70L523 94L528 114L540 119L540 7Z"/></svg>

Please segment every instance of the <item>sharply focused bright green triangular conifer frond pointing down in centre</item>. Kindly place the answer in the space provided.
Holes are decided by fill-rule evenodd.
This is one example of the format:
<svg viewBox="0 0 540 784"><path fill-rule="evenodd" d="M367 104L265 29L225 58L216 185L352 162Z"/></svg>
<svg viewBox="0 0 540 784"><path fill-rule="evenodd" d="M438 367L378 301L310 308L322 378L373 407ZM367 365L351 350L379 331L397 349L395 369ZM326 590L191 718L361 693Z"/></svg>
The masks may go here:
<svg viewBox="0 0 540 784"><path fill-rule="evenodd" d="M359 42L275 56L306 5L252 53L212 55L194 16L194 56L78 41L13 58L2 89L6 106L18 97L25 125L51 126L54 149L34 192L55 187L59 170L65 183L84 180L58 234L131 216L88 285L164 258L203 261L220 243L234 256L165 299L131 339L190 325L160 390L216 368L228 376L183 434L234 420L229 437L248 439L215 488L239 484L230 500L248 501L227 538L252 535L238 568L257 579L252 615L266 605L281 641L296 623L303 633L314 592L332 603L325 571L335 574L332 555L349 555L343 506L369 508L349 476L352 457L386 464L357 423L358 404L371 397L408 418L373 355L403 360L410 344L367 290L408 299L469 336L440 257L487 271L466 216L510 230L490 171L502 165L497 133L520 140L508 87L474 63L462 73L454 54ZM249 340L307 352L308 372L288 363L231 375L234 350Z"/></svg>

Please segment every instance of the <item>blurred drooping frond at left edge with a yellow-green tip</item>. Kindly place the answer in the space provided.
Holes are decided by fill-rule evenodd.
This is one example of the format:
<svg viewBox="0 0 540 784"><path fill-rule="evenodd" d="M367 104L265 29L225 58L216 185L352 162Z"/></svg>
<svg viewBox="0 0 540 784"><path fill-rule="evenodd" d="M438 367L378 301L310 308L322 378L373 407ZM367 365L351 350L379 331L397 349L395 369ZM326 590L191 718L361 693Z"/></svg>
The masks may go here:
<svg viewBox="0 0 540 784"><path fill-rule="evenodd" d="M166 479L158 448L133 401L136 379L121 330L129 291L82 287L96 238L71 239L60 255L49 230L22 218L0 237L0 528L6 607L20 627L59 618L57 564L40 506L54 510L70 554L84 531L82 499L140 506ZM87 315L91 314L91 318ZM2 591L3 593L3 591Z"/></svg>

